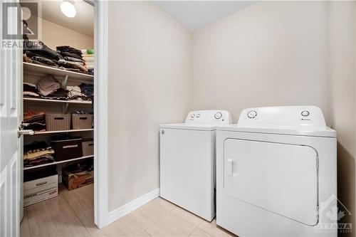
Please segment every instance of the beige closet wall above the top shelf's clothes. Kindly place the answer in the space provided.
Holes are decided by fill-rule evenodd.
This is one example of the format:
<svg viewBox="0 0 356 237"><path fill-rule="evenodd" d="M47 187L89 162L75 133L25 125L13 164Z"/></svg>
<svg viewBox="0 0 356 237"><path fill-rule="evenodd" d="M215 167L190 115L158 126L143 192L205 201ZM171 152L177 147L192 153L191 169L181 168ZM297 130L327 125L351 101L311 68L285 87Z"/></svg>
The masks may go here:
<svg viewBox="0 0 356 237"><path fill-rule="evenodd" d="M73 48L93 48L94 38L78 33L70 28L60 26L51 21L42 19L41 40L49 48L56 50L56 46L71 46Z"/></svg>

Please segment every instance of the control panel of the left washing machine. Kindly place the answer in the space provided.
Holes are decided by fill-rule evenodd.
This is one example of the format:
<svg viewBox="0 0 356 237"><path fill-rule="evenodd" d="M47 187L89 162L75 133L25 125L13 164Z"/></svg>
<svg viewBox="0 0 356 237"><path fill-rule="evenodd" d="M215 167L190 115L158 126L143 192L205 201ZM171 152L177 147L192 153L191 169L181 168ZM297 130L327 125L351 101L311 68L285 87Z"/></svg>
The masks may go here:
<svg viewBox="0 0 356 237"><path fill-rule="evenodd" d="M189 112L185 120L186 123L202 123L202 124L231 124L231 115L226 110L199 110Z"/></svg>

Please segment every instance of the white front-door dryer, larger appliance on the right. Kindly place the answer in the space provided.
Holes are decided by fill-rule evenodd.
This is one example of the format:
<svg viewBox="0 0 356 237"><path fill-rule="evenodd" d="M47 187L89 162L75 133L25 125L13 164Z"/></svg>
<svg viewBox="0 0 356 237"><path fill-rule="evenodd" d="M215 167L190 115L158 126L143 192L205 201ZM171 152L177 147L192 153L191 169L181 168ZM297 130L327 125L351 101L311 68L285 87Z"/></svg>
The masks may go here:
<svg viewBox="0 0 356 237"><path fill-rule="evenodd" d="M336 237L336 169L318 107L246 109L216 129L216 223L238 236Z"/></svg>

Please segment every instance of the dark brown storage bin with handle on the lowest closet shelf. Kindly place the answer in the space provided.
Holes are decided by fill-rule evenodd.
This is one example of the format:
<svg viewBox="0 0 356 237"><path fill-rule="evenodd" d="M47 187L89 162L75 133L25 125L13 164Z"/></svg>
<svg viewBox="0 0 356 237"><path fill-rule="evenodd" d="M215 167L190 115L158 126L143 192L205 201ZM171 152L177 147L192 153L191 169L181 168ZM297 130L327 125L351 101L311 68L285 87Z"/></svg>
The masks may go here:
<svg viewBox="0 0 356 237"><path fill-rule="evenodd" d="M53 158L56 162L83 157L82 138L72 137L70 139L52 140L51 147L54 150Z"/></svg>

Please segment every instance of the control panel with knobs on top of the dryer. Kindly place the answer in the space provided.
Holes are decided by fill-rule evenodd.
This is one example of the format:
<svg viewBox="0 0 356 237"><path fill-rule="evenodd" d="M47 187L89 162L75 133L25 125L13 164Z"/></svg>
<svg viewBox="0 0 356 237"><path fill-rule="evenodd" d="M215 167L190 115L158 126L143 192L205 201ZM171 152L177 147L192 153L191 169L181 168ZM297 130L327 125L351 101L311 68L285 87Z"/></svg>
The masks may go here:
<svg viewBox="0 0 356 237"><path fill-rule="evenodd" d="M243 110L238 124L325 126L325 119L316 106L256 107Z"/></svg>

